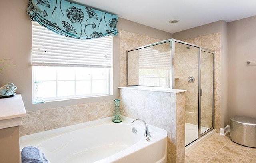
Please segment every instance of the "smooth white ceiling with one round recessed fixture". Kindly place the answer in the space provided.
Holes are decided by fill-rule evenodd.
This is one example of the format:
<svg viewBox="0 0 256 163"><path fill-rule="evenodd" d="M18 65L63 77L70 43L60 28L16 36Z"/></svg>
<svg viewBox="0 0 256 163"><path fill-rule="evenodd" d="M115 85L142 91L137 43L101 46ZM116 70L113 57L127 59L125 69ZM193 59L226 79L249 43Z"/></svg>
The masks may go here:
<svg viewBox="0 0 256 163"><path fill-rule="evenodd" d="M256 0L72 0L170 33L256 15ZM178 19L176 24L169 20Z"/></svg>

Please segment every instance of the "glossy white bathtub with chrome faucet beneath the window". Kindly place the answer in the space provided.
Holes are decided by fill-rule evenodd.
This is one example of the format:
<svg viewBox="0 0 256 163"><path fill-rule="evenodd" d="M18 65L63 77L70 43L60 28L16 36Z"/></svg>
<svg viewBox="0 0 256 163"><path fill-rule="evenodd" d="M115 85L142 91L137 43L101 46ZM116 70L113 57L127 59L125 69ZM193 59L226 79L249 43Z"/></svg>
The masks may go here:
<svg viewBox="0 0 256 163"><path fill-rule="evenodd" d="M38 147L51 163L166 163L167 131L140 121L112 117L20 137L21 149ZM136 133L132 128L137 129Z"/></svg>

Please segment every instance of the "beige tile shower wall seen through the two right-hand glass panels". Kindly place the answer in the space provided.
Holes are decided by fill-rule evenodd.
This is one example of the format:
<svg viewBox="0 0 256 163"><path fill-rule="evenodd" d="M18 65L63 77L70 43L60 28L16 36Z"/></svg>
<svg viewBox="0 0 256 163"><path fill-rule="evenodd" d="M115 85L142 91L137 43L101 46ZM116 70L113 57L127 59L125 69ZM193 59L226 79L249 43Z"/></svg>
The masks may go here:
<svg viewBox="0 0 256 163"><path fill-rule="evenodd" d="M175 89L186 89L186 123L198 125L199 48L175 42ZM212 55L201 52L201 126L212 127ZM188 83L188 77L195 78Z"/></svg>

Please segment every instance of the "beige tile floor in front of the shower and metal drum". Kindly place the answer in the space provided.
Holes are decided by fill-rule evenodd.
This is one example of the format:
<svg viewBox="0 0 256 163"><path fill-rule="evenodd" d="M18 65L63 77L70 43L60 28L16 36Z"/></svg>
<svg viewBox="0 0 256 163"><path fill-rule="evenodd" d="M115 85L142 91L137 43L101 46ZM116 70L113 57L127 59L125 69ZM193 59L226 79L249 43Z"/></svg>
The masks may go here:
<svg viewBox="0 0 256 163"><path fill-rule="evenodd" d="M256 163L256 148L230 140L230 135L215 133L185 155L185 163Z"/></svg>

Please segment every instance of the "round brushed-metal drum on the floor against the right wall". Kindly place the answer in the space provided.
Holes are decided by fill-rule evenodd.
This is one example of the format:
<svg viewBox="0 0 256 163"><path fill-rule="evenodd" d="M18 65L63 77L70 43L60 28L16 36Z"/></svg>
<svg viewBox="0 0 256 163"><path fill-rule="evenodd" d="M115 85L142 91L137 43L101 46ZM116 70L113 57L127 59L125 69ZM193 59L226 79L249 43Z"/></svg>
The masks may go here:
<svg viewBox="0 0 256 163"><path fill-rule="evenodd" d="M230 139L238 144L256 148L256 119L231 117Z"/></svg>

